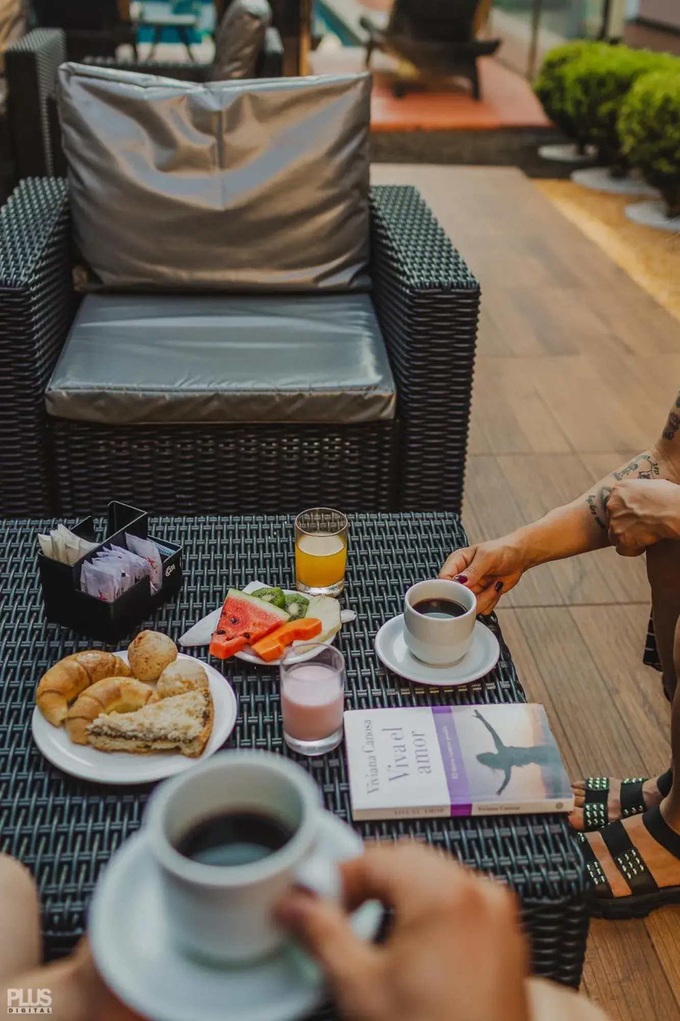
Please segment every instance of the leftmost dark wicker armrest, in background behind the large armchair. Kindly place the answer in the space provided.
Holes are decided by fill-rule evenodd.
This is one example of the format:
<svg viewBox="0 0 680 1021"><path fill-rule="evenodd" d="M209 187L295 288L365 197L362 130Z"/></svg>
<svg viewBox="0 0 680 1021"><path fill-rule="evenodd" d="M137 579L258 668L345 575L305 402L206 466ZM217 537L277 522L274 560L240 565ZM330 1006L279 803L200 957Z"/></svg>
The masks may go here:
<svg viewBox="0 0 680 1021"><path fill-rule="evenodd" d="M34 29L7 48L7 115L16 180L54 173L47 98L65 59L61 29Z"/></svg>

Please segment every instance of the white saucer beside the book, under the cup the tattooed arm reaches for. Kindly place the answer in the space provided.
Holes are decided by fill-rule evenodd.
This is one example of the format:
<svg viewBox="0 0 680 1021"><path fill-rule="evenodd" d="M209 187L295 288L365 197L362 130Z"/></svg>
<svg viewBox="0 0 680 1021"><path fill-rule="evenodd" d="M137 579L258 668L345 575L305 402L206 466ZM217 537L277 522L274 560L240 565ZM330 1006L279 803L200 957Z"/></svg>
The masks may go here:
<svg viewBox="0 0 680 1021"><path fill-rule="evenodd" d="M455 684L470 684L486 677L493 670L500 646L490 628L481 621L475 622L473 643L467 655L454 667L428 667L410 654L403 637L403 614L383 624L376 635L376 652L389 670L406 681L426 687L449 688Z"/></svg>

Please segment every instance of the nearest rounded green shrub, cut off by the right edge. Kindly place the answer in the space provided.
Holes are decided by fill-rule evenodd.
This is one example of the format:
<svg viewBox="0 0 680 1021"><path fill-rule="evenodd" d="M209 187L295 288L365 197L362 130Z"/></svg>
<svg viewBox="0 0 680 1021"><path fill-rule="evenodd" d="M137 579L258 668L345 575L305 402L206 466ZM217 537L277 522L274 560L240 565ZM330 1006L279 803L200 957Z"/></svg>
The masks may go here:
<svg viewBox="0 0 680 1021"><path fill-rule="evenodd" d="M680 217L680 60L674 69L637 80L621 105L618 129L623 154L661 192L665 216Z"/></svg>

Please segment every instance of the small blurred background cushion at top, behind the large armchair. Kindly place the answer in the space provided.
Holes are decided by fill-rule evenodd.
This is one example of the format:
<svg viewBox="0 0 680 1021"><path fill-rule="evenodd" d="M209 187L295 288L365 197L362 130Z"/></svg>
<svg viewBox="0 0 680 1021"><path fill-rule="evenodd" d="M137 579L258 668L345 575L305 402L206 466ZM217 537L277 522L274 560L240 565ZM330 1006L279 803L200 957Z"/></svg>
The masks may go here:
<svg viewBox="0 0 680 1021"><path fill-rule="evenodd" d="M266 0L232 0L215 35L212 78L254 78L271 23L272 8Z"/></svg>

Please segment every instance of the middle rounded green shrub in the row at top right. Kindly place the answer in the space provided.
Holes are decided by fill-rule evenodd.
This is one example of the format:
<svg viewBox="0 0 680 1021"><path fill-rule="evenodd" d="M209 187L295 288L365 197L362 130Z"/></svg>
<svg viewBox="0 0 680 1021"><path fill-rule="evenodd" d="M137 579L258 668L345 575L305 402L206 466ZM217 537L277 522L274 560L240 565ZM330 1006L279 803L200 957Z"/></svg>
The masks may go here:
<svg viewBox="0 0 680 1021"><path fill-rule="evenodd" d="M598 46L583 50L565 65L567 115L579 125L581 137L597 146L600 162L611 167L612 177L625 177L630 168L617 128L629 90L643 75L672 69L676 64L677 58L670 53Z"/></svg>

